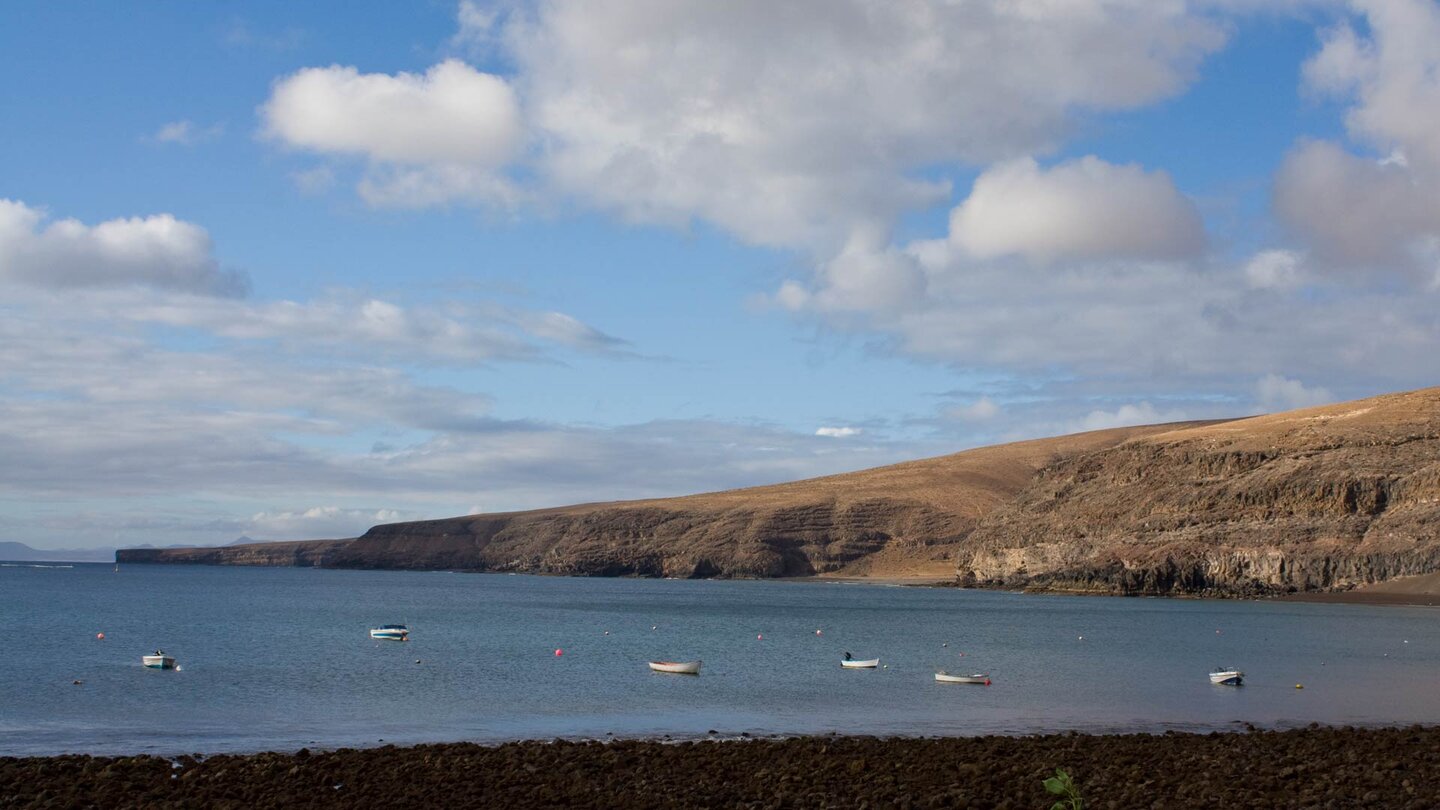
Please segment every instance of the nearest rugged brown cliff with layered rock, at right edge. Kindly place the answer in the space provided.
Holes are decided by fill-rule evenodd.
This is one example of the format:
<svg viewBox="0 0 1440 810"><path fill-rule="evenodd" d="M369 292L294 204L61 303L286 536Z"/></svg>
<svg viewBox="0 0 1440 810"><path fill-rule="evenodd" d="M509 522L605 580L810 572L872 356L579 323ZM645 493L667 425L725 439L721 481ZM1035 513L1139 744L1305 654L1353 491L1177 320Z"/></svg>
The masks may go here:
<svg viewBox="0 0 1440 810"><path fill-rule="evenodd" d="M965 584L1109 594L1344 589L1440 571L1440 389L1058 460L986 515Z"/></svg>

